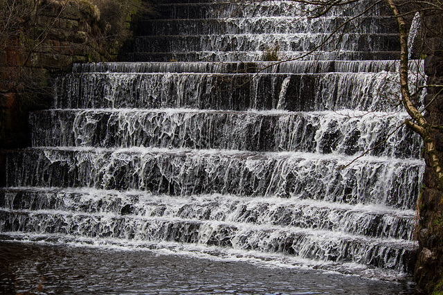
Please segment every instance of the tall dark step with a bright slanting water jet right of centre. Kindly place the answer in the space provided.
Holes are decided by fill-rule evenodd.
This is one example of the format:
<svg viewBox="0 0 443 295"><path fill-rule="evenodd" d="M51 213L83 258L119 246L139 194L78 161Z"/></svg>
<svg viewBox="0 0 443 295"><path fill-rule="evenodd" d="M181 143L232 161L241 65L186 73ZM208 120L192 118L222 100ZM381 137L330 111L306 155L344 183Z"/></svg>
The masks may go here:
<svg viewBox="0 0 443 295"><path fill-rule="evenodd" d="M424 84L424 78L418 78ZM399 111L398 79L390 72L73 73L55 81L54 98L55 108L69 109Z"/></svg>

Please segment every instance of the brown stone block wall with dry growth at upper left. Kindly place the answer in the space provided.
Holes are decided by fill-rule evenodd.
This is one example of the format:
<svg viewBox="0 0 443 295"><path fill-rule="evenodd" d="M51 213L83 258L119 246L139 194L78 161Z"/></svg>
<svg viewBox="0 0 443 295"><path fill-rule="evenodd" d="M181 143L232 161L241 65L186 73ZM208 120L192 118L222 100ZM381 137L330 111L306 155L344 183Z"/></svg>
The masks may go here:
<svg viewBox="0 0 443 295"><path fill-rule="evenodd" d="M51 105L53 75L74 62L116 60L132 36L131 15L123 15L123 29L109 28L87 0L42 1L30 17L0 48L0 148L29 145L28 111Z"/></svg>

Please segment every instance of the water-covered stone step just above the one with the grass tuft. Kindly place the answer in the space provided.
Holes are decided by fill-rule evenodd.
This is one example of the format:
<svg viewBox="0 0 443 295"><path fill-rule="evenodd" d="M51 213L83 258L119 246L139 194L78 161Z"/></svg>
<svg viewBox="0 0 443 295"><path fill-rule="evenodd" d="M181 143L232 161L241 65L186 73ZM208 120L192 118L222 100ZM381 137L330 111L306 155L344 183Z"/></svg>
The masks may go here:
<svg viewBox="0 0 443 295"><path fill-rule="evenodd" d="M398 51L397 34L346 33L336 39L329 34L223 34L139 36L134 39L134 52L192 52L192 51Z"/></svg>

